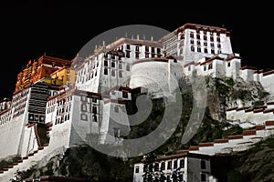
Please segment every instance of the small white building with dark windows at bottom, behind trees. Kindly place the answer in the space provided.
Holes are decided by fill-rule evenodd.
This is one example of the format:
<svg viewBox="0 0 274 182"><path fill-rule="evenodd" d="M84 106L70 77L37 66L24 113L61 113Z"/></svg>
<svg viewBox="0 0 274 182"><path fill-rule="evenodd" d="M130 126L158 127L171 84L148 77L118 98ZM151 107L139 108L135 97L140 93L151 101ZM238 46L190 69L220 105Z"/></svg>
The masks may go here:
<svg viewBox="0 0 274 182"><path fill-rule="evenodd" d="M177 154L157 157L153 163L142 162L134 165L133 182L144 182L146 171L153 170L154 177L163 177L164 181L172 182L215 182L216 178L210 175L210 157L207 155L192 154L187 151Z"/></svg>

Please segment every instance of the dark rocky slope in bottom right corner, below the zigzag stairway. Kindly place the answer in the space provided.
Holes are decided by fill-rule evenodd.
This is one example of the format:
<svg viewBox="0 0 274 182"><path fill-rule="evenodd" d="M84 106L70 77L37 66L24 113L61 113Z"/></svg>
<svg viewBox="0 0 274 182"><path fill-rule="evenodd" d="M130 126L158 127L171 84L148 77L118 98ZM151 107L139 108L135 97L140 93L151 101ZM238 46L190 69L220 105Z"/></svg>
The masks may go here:
<svg viewBox="0 0 274 182"><path fill-rule="evenodd" d="M274 139L269 138L250 150L211 160L212 173L222 182L273 181Z"/></svg>

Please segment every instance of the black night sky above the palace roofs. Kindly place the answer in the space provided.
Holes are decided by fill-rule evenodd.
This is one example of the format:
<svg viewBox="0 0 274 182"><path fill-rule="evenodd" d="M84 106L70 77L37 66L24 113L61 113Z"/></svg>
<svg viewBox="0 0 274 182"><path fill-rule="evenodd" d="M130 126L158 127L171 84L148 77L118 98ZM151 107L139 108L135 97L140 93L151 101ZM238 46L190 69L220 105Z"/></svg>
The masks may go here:
<svg viewBox="0 0 274 182"><path fill-rule="evenodd" d="M111 6L111 5L109 5ZM178 5L168 7L117 7L30 2L0 6L0 99L11 97L16 75L28 60L42 56L72 59L94 36L121 25L153 25L173 31L185 23L224 25L231 31L232 48L242 57L242 66L274 68L271 56L273 32L269 27L270 13L243 13L237 9L208 12L185 11ZM228 12L228 13L224 13ZM231 15L236 15L233 17ZM266 27L264 32L259 32Z"/></svg>

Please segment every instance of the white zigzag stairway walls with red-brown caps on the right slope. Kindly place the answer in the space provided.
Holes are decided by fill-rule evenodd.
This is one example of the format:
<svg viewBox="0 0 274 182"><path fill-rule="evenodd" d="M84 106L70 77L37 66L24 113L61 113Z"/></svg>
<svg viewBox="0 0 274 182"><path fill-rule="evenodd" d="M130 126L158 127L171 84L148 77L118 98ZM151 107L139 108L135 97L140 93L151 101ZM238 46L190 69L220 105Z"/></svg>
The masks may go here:
<svg viewBox="0 0 274 182"><path fill-rule="evenodd" d="M255 108L230 108L227 109L227 116L230 119L229 123L244 128L241 135L200 143L198 146L189 147L186 151L209 156L231 154L248 150L259 141L274 137L274 102L268 102L266 106Z"/></svg>

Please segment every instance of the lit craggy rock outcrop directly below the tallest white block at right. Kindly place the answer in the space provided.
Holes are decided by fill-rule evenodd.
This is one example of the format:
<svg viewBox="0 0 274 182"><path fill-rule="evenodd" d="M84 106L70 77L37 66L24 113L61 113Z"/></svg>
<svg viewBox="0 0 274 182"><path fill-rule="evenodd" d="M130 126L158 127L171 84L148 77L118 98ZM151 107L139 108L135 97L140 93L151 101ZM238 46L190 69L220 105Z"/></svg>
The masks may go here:
<svg viewBox="0 0 274 182"><path fill-rule="evenodd" d="M226 109L231 107L249 107L263 105L268 101L269 93L259 82L246 82L242 78L206 77L207 103L212 118L225 121Z"/></svg>

